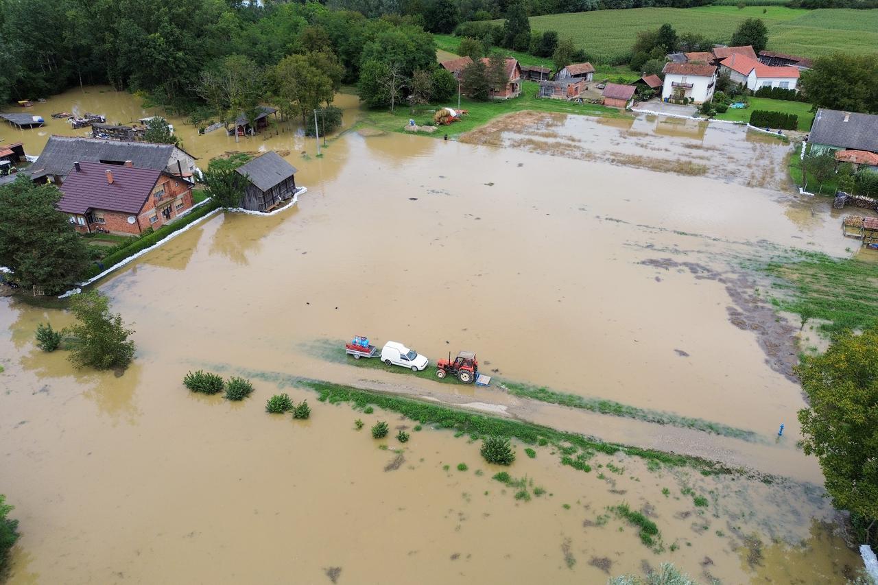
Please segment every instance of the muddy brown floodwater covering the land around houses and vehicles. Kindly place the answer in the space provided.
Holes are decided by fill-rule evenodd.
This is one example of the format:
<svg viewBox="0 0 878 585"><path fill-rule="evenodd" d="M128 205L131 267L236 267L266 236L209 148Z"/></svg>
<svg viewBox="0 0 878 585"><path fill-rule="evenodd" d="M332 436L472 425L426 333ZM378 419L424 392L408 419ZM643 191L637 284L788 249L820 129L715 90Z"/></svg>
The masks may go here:
<svg viewBox="0 0 878 585"><path fill-rule="evenodd" d="M155 113L100 91L35 110ZM355 98L337 101L349 127ZM0 490L23 532L12 583L583 583L664 560L723 583L844 582L858 567L816 462L795 448L800 389L760 330L739 326L759 317L732 278L742 260L788 247L844 254L827 206L746 177L600 157L347 133L317 159L300 154L313 141L295 126L235 145L171 121L203 161L288 150L309 191L270 218L213 216L104 279L136 329L137 357L119 378L35 348L36 325L63 326L67 314L0 299ZM600 134L604 123L554 127ZM22 133L30 154L40 132ZM723 136L710 156L743 156L742 136ZM520 488L491 479L500 468L478 443L323 404L284 380L445 393L611 440L691 445L666 427L362 369L315 349L353 334L431 360L476 350L504 379L751 430L752 448L701 435L714 459L782 477L705 477L607 455L583 473L560 466L551 446L529 459L518 445L508 472L533 497L516 500ZM255 394L241 404L192 395L181 379L201 367L257 372ZM310 420L264 412L281 386L310 400ZM356 418L366 429L354 430ZM378 420L408 427L411 440L373 440ZM611 510L623 503L657 524L661 552Z"/></svg>

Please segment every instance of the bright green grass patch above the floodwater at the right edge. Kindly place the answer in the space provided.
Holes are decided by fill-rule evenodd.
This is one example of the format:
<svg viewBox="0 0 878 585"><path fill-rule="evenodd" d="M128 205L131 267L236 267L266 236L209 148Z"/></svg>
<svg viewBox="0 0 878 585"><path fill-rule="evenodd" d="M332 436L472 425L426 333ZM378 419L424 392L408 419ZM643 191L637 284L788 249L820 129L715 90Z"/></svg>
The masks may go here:
<svg viewBox="0 0 878 585"><path fill-rule="evenodd" d="M878 325L878 265L804 250L794 254L764 267L775 277L775 307L798 314L802 326L823 321L817 329L827 334Z"/></svg>

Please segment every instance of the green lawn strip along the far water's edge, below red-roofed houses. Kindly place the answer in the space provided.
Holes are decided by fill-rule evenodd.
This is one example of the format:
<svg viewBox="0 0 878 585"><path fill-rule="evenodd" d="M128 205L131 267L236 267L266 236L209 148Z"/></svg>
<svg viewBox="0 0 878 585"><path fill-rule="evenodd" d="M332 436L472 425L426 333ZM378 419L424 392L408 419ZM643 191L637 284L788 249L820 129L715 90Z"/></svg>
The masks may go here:
<svg viewBox="0 0 878 585"><path fill-rule="evenodd" d="M608 108L603 105L572 104L559 99L538 99L536 97L537 88L538 84L536 82L524 82L522 83L522 95L508 100L498 99L490 102L477 102L468 97L463 97L461 98L460 107L467 110L469 114L450 126L441 126L433 134L424 135L442 138L445 133L448 133L450 137L456 137L473 128L484 126L499 116L512 112L522 112L523 110L586 114L610 118L630 117L628 113L619 112L615 108ZM457 109L457 97L452 97L444 104L419 107L415 110L414 114L412 113L412 108L407 106L397 108L394 113L378 110L367 111L363 116L362 123L387 132L404 132L403 127L408 124L409 119L414 119L414 122L419 126L433 124L433 112L443 106Z"/></svg>

